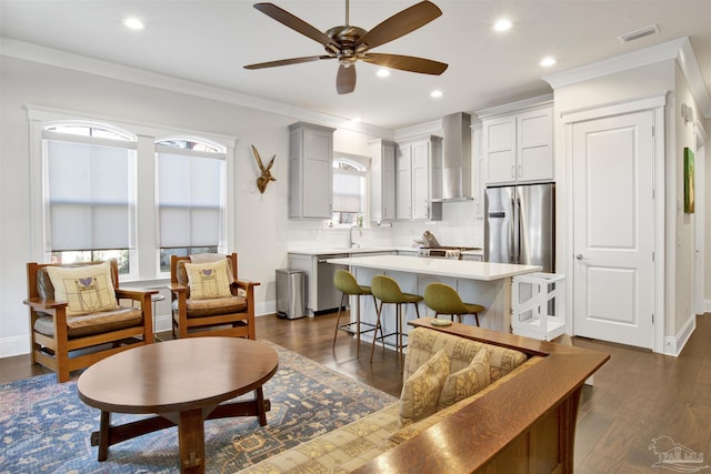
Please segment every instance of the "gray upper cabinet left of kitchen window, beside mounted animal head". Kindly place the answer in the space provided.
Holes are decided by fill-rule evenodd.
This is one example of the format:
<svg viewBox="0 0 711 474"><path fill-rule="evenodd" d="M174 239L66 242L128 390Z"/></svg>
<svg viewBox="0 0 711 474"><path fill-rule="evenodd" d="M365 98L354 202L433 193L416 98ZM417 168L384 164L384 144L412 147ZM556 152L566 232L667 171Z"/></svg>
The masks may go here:
<svg viewBox="0 0 711 474"><path fill-rule="evenodd" d="M290 219L331 219L334 131L304 122L289 125Z"/></svg>

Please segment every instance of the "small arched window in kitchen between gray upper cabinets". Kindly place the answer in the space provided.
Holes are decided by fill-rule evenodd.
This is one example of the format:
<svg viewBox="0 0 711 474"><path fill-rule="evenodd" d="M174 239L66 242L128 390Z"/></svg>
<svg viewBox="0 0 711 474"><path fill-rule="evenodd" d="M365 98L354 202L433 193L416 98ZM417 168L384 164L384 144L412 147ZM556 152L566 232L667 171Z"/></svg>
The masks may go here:
<svg viewBox="0 0 711 474"><path fill-rule="evenodd" d="M365 214L367 173L364 164L352 158L333 160L333 222L353 225Z"/></svg>

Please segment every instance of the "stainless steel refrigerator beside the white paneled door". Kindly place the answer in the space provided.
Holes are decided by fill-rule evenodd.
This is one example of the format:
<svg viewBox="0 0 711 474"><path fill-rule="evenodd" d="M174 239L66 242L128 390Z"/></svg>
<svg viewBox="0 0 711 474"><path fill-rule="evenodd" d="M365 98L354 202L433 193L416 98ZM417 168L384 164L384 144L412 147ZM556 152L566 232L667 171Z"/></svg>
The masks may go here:
<svg viewBox="0 0 711 474"><path fill-rule="evenodd" d="M555 268L555 184L487 188L484 261Z"/></svg>

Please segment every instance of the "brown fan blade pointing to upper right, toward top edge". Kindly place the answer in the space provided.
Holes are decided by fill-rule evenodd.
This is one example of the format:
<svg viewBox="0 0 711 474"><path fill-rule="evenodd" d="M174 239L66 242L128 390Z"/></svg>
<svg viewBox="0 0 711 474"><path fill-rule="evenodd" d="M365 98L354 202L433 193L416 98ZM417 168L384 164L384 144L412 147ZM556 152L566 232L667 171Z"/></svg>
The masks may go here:
<svg viewBox="0 0 711 474"><path fill-rule="evenodd" d="M375 26L356 41L354 47L358 48L360 44L368 46L368 49L379 47L425 26L441 14L442 10L430 1L415 3Z"/></svg>

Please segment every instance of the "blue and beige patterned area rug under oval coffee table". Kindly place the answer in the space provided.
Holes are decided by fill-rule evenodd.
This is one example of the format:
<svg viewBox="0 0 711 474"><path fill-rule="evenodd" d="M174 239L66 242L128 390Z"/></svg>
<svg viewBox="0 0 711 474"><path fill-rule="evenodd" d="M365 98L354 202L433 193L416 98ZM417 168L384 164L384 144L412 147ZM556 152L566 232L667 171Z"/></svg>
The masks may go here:
<svg viewBox="0 0 711 474"><path fill-rule="evenodd" d="M279 354L279 370L264 384L264 396L271 401L268 424L259 426L256 417L207 421L206 472L238 472L395 401L277 344L261 342ZM79 400L77 379L58 384L48 374L0 385L0 473L180 471L176 427L114 444L109 458L98 462L90 434L99 427L100 412ZM134 420L139 416L114 414L111 421Z"/></svg>

